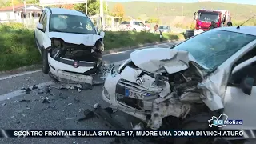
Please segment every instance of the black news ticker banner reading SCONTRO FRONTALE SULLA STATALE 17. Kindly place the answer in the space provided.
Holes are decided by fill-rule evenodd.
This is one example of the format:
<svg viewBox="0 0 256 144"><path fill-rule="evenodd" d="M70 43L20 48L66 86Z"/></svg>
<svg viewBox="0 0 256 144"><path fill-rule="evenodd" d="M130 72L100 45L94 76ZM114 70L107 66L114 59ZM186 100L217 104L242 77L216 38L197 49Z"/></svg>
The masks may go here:
<svg viewBox="0 0 256 144"><path fill-rule="evenodd" d="M0 138L20 137L242 137L255 130L0 130Z"/></svg>

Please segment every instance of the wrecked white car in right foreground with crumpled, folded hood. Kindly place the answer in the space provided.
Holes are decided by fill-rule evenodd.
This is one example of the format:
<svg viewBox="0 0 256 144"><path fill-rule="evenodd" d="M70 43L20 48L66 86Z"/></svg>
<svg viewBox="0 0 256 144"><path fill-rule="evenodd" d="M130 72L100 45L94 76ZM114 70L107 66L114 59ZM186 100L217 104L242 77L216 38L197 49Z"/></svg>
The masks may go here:
<svg viewBox="0 0 256 144"><path fill-rule="evenodd" d="M256 129L255 78L256 26L223 27L170 49L134 51L110 71L102 95L154 130L208 129L222 113L243 120L222 129Z"/></svg>

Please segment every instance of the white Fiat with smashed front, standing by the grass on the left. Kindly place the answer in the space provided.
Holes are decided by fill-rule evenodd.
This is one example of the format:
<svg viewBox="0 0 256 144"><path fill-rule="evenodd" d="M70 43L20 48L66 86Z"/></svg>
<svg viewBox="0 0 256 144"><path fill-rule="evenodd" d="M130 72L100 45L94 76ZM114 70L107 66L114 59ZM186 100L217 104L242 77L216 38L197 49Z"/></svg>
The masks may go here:
<svg viewBox="0 0 256 144"><path fill-rule="evenodd" d="M44 8L34 38L42 54L42 71L62 82L92 84L102 65L102 21L94 26L77 10Z"/></svg>

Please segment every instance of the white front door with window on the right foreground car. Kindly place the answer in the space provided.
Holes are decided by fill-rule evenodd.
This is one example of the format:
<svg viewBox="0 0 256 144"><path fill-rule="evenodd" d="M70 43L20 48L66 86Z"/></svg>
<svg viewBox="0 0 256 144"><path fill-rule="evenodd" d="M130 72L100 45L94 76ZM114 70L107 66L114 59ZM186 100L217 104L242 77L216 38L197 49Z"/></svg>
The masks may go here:
<svg viewBox="0 0 256 144"><path fill-rule="evenodd" d="M243 123L222 129L256 129L256 56L234 67L223 103L228 119L242 120Z"/></svg>

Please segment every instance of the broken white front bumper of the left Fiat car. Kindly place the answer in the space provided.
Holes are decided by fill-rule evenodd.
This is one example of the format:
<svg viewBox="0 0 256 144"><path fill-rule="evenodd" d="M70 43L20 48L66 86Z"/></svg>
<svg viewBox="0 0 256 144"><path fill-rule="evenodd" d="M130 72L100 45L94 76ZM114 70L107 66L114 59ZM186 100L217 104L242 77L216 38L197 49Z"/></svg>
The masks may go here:
<svg viewBox="0 0 256 144"><path fill-rule="evenodd" d="M82 82L92 85L93 77L90 74L94 74L98 70L94 62L79 62L76 67L73 60L61 58L57 61L51 58L50 54L48 54L48 62L50 73L62 82Z"/></svg>

